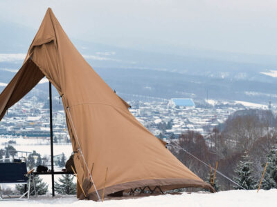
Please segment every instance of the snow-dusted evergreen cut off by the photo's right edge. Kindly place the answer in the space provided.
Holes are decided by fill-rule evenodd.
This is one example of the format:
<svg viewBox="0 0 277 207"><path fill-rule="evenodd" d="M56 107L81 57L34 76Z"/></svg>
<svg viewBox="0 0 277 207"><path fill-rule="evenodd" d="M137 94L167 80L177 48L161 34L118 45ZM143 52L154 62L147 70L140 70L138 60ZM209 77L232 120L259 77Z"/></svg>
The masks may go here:
<svg viewBox="0 0 277 207"><path fill-rule="evenodd" d="M265 168L265 166L262 166ZM267 155L267 169L265 170L265 177L262 180L261 187L264 190L277 188L277 144L270 150Z"/></svg>

